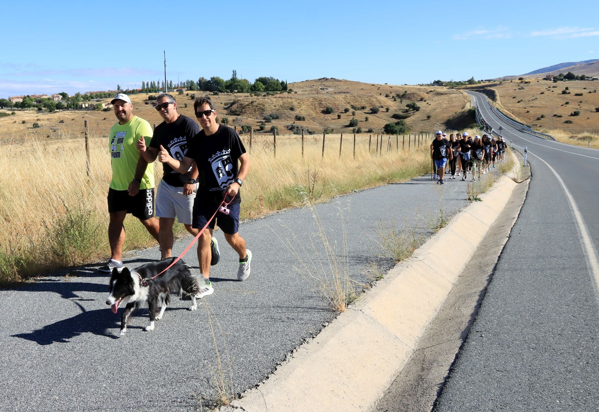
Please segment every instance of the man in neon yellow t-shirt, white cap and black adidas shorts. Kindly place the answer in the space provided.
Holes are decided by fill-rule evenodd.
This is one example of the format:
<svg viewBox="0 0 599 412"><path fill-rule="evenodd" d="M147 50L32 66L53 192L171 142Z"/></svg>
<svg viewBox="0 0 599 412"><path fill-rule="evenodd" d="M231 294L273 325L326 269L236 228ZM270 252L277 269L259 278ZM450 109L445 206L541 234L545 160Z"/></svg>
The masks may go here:
<svg viewBox="0 0 599 412"><path fill-rule="evenodd" d="M110 128L112 180L108 189L108 242L111 257L99 269L103 272L123 268L123 222L128 213L140 219L158 241L158 219L154 217L154 167L148 165L135 147L142 138L150 144L152 127L146 120L133 115L129 96L119 93L111 104L119 122Z"/></svg>

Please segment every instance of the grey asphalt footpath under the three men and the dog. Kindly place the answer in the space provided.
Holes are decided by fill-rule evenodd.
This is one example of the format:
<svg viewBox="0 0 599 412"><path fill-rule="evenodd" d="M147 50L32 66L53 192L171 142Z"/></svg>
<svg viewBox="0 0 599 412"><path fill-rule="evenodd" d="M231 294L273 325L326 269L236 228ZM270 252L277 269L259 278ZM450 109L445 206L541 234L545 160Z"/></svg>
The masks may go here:
<svg viewBox="0 0 599 412"><path fill-rule="evenodd" d="M341 266L365 283L371 262L383 272L394 266L383 256L377 226L401 227L420 216L418 231L430 235L441 195L445 216L452 216L467 205L465 187L459 179L440 186L425 176L340 196L314 210ZM327 265L315 222L309 208L243 222L240 233L253 252L244 282L237 281L237 256L215 232L222 259L211 271L214 294L200 299L196 311L186 310L190 301L173 299L153 332L143 331L143 309L118 337L122 310L113 314L105 304L108 277L95 270L99 265L0 290L0 410L199 410L200 398L218 397L214 341L228 392L255 386L335 317L294 269L299 262L288 249L304 262L318 262L319 255ZM174 254L190 239L178 241ZM135 267L158 257L154 248L126 256L125 263ZM197 266L195 247L184 260Z"/></svg>

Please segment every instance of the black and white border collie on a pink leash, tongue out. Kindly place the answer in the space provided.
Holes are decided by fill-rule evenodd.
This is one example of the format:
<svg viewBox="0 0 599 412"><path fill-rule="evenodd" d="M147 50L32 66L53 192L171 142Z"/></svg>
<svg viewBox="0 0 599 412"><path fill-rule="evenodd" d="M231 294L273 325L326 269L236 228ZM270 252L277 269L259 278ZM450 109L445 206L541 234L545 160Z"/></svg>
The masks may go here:
<svg viewBox="0 0 599 412"><path fill-rule="evenodd" d="M151 277L162 272L176 258L168 258L159 262L146 263L131 272L123 268L119 272L116 268L110 277L110 294L106 304L110 305L113 313L116 313L119 305L126 303L125 312L120 319L120 335L127 332L127 325L134 310L140 304L147 302L150 311L150 324L144 330L153 331L155 320L161 319L167 305L170 303L170 295L189 295L192 306L189 310L196 310L196 293L198 293L198 279L189 270L191 266L179 260L170 269L158 277ZM162 304L160 313L156 313L159 303Z"/></svg>

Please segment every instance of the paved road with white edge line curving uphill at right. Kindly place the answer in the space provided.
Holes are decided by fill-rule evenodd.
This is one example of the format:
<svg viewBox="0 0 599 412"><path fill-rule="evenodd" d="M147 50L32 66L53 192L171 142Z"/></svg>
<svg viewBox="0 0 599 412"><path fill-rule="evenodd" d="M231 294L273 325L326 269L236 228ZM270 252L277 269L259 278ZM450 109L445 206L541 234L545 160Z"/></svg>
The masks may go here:
<svg viewBox="0 0 599 412"><path fill-rule="evenodd" d="M599 410L599 151L514 131L527 199L435 411Z"/></svg>

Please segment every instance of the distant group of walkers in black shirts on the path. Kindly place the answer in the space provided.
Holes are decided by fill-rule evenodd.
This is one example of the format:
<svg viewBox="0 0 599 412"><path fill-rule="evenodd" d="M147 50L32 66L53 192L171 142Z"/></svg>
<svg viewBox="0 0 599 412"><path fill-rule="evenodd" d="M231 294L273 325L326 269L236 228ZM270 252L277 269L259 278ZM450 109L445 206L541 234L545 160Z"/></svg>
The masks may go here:
<svg viewBox="0 0 599 412"><path fill-rule="evenodd" d="M480 179L482 174L495 167L495 162L503 162L507 152L507 144L501 136L495 139L485 134L482 138L479 135L472 138L464 132L450 134L449 140L446 137L446 134L438 130L431 143L433 178L438 179L438 184L444 184L447 163L451 172L450 179L455 179L456 175L461 174L462 180L467 180L470 173L472 180L476 181L476 171Z"/></svg>

